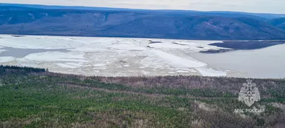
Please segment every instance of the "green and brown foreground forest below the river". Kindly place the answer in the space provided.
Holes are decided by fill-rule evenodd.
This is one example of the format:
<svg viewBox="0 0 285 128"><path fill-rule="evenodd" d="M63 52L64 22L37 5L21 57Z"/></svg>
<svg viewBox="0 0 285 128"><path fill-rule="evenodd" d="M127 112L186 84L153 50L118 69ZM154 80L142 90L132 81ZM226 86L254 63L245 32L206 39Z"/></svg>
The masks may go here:
<svg viewBox="0 0 285 128"><path fill-rule="evenodd" d="M0 66L0 127L285 127L285 80L253 79L261 101L238 101L244 78L86 77ZM264 113L234 109L264 108Z"/></svg>

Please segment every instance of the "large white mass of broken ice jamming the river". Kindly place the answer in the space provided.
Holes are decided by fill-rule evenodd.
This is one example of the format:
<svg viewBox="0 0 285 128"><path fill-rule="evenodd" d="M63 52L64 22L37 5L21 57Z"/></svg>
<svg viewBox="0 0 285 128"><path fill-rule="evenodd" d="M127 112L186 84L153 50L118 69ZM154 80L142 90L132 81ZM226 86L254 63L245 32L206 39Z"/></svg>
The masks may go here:
<svg viewBox="0 0 285 128"><path fill-rule="evenodd" d="M48 68L50 71L82 75L199 75L199 73L209 76L224 75L222 71L205 68L207 63L195 60L187 54L217 48L207 44L219 41L0 36L0 53L4 51L1 48L5 47L66 50L31 53L24 58L0 56L0 63L33 65Z"/></svg>

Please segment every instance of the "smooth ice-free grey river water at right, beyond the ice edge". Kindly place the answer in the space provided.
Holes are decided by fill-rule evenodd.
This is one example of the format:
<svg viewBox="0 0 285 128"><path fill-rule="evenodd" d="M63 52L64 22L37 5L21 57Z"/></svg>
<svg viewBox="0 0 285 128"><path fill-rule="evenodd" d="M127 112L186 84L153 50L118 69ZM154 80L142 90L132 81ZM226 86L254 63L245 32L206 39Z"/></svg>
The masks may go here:
<svg viewBox="0 0 285 128"><path fill-rule="evenodd" d="M194 53L193 58L214 68L231 70L231 77L285 78L285 45L227 53Z"/></svg>

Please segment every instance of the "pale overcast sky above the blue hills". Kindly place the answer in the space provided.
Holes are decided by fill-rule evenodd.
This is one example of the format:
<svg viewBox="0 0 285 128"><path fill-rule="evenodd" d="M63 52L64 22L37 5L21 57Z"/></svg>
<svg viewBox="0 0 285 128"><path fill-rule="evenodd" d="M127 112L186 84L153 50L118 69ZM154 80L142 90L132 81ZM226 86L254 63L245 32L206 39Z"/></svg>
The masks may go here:
<svg viewBox="0 0 285 128"><path fill-rule="evenodd" d="M0 0L0 3L285 14L285 0Z"/></svg>

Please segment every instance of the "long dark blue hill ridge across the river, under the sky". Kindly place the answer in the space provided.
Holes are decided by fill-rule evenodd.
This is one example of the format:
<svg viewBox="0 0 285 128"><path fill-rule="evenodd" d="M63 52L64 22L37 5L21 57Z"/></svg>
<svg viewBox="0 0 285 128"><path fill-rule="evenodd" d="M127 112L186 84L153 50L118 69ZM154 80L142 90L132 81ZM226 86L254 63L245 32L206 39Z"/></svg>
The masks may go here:
<svg viewBox="0 0 285 128"><path fill-rule="evenodd" d="M239 12L69 8L0 4L0 33L204 40L285 39L285 31L266 22L266 18Z"/></svg>

